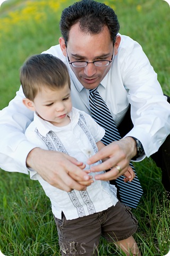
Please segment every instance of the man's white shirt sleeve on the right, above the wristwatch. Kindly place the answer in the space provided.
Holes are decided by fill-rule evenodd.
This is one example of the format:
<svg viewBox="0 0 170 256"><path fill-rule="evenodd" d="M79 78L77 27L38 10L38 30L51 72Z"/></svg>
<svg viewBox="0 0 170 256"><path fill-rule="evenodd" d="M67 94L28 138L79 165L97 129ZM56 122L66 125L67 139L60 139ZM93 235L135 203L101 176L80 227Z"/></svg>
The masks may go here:
<svg viewBox="0 0 170 256"><path fill-rule="evenodd" d="M149 157L170 133L170 105L142 47L135 41L131 44L121 66L134 124L126 136L138 138Z"/></svg>

